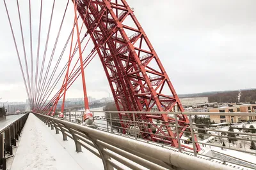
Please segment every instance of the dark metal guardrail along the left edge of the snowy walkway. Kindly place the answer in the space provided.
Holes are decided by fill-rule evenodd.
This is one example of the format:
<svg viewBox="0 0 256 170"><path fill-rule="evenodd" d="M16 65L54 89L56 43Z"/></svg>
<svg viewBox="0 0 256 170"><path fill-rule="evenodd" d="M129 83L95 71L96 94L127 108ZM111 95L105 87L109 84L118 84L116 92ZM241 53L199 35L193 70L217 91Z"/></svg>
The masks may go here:
<svg viewBox="0 0 256 170"><path fill-rule="evenodd" d="M28 114L23 115L11 124L0 130L0 166L6 170L6 159L13 157L13 148L19 140L20 133L28 118Z"/></svg>

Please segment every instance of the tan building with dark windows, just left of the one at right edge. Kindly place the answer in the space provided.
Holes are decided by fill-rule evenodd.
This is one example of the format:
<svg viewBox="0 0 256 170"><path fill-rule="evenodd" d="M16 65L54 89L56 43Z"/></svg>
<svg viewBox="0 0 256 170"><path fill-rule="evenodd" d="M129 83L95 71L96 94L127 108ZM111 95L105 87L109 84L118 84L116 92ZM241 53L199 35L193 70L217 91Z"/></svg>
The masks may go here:
<svg viewBox="0 0 256 170"><path fill-rule="evenodd" d="M221 106L220 108L208 108L209 112L218 112L218 113L232 113L240 112L239 106ZM238 116L220 116L220 115L210 115L211 122L219 123L237 123L241 122L241 117Z"/></svg>

